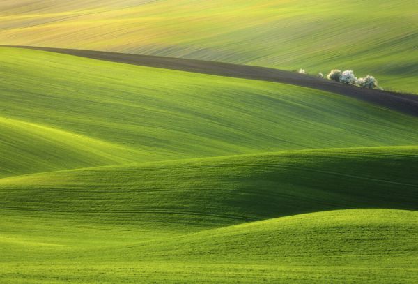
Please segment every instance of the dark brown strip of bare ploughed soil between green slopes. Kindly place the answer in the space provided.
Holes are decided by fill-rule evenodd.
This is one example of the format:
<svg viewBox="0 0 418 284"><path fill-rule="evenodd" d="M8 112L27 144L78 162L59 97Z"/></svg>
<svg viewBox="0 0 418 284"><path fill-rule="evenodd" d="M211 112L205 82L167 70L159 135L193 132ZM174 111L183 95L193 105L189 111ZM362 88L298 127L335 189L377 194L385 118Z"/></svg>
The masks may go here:
<svg viewBox="0 0 418 284"><path fill-rule="evenodd" d="M85 57L89 59L98 59L102 61L125 63L137 66L164 68L192 73L236 77L240 79L260 80L282 84L292 84L300 87L319 89L321 91L329 91L334 94L356 98L367 103L373 103L375 105L380 105L381 107L418 117L417 95L396 93L392 91L381 91L376 89L364 89L286 70L222 63L217 61L181 59L174 57L157 57L151 55L125 54L95 50L75 50L22 45L0 45L0 47L41 50L45 52L56 52L77 57Z"/></svg>

